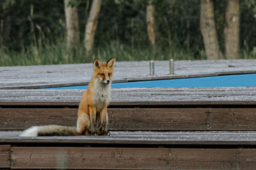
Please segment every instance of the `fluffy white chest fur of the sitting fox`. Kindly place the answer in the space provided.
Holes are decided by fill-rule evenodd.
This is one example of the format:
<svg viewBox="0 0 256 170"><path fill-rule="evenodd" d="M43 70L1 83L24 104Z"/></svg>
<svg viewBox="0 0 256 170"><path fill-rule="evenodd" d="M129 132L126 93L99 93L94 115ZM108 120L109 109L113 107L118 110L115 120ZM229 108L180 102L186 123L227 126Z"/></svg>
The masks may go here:
<svg viewBox="0 0 256 170"><path fill-rule="evenodd" d="M101 112L102 108L109 104L111 98L111 84L102 84L96 79L94 82L93 104L96 107L96 112Z"/></svg>

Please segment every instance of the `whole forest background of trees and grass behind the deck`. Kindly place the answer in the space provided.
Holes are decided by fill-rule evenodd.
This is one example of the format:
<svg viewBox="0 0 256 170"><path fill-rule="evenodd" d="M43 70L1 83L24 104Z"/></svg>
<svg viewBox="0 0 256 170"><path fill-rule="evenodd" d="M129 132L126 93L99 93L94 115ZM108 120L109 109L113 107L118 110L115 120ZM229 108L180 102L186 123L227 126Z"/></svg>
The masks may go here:
<svg viewBox="0 0 256 170"><path fill-rule="evenodd" d="M0 66L112 57L256 59L256 1L0 1Z"/></svg>

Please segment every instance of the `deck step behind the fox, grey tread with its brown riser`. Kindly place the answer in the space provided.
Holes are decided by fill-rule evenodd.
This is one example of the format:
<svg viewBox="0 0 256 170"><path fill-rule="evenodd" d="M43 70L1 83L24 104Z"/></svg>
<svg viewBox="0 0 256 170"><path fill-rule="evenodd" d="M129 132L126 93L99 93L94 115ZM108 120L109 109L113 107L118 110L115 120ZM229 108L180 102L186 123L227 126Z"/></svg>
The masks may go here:
<svg viewBox="0 0 256 170"><path fill-rule="evenodd" d="M0 130L76 125L83 90L0 90ZM110 130L256 130L256 87L113 89ZM12 115L12 116L10 116Z"/></svg>

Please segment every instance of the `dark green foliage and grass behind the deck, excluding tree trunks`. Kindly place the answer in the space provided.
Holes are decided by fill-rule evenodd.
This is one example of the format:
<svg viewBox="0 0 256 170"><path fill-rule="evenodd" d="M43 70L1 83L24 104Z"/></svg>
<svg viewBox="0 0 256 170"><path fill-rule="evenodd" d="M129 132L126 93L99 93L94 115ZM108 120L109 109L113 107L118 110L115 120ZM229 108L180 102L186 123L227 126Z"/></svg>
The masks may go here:
<svg viewBox="0 0 256 170"><path fill-rule="evenodd" d="M78 7L80 39L83 42L92 0L71 0ZM148 39L146 7L155 5L156 46ZM33 5L33 16L30 8ZM215 0L215 25L222 52L225 50L225 0ZM31 17L34 33L31 32ZM64 0L2 0L0 20L10 17L10 37L0 42L0 66L92 62L98 57L117 61L206 59L200 32L200 0L102 0L95 32L93 56L65 47ZM240 1L240 55L256 58L256 1ZM8 25L7 25L8 26ZM0 29L1 34L1 29ZM1 39L0 39L1 40Z"/></svg>

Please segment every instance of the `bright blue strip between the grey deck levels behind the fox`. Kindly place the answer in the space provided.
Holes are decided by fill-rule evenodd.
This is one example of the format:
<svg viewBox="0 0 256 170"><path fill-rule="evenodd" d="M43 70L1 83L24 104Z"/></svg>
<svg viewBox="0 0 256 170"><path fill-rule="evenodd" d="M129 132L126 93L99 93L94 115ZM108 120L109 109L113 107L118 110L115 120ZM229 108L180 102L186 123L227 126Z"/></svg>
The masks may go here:
<svg viewBox="0 0 256 170"><path fill-rule="evenodd" d="M150 80L140 82L113 83L112 88L133 87L240 87L256 86L256 74L210 76L200 78ZM50 89L81 89L88 86L55 87Z"/></svg>

